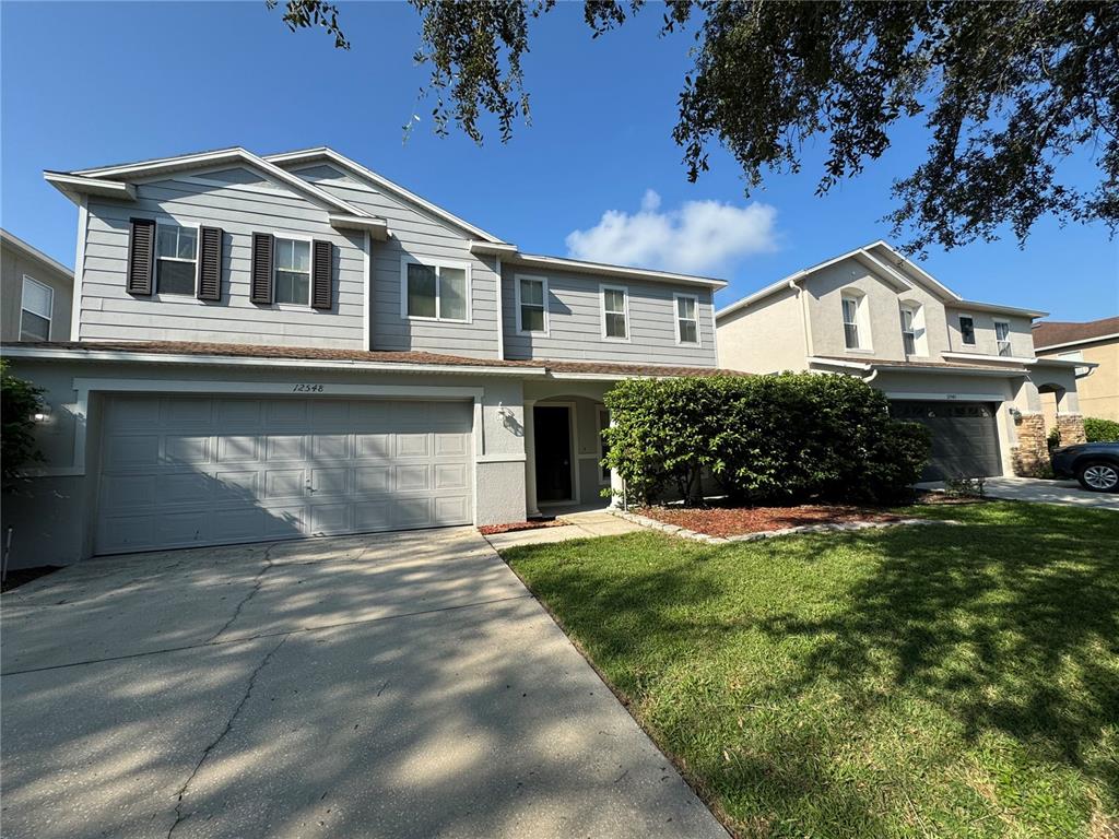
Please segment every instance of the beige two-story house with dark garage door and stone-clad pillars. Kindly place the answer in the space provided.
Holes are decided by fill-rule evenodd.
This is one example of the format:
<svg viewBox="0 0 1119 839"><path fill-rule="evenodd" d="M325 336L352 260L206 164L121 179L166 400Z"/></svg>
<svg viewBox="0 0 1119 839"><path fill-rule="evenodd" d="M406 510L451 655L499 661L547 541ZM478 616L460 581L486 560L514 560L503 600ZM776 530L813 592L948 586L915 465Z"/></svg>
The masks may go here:
<svg viewBox="0 0 1119 839"><path fill-rule="evenodd" d="M925 480L1031 472L1047 463L1042 393L1065 442L1083 440L1076 362L1038 358L1045 313L963 300L884 242L798 271L721 309L720 358L750 373L859 376L891 412L927 425Z"/></svg>

